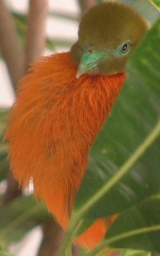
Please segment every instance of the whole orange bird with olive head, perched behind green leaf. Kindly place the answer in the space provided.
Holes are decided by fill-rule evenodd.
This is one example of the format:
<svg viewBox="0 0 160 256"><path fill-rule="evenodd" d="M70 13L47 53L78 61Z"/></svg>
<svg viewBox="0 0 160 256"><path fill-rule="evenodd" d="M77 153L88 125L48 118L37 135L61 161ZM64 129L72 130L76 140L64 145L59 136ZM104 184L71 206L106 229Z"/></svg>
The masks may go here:
<svg viewBox="0 0 160 256"><path fill-rule="evenodd" d="M88 154L126 80L126 64L147 22L119 1L92 6L67 52L41 57L18 84L5 140L10 168L65 230ZM117 216L99 218L76 238L92 249Z"/></svg>

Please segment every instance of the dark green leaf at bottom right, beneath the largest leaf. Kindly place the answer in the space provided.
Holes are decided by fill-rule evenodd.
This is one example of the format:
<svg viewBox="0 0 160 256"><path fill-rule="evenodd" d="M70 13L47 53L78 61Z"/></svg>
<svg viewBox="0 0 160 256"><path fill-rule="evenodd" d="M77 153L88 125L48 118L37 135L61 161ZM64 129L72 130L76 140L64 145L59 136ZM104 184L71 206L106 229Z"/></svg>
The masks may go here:
<svg viewBox="0 0 160 256"><path fill-rule="evenodd" d="M117 241L108 243L108 246L115 248L131 248L137 250L160 251L160 194L154 198L149 198L145 202L132 206L130 209L123 211L118 220L114 222L107 232L106 241L115 236ZM130 225L128 225L130 223ZM159 226L158 230L145 232L141 234L142 228ZM131 231L137 230L134 236L129 235ZM128 234L123 238L123 234Z"/></svg>

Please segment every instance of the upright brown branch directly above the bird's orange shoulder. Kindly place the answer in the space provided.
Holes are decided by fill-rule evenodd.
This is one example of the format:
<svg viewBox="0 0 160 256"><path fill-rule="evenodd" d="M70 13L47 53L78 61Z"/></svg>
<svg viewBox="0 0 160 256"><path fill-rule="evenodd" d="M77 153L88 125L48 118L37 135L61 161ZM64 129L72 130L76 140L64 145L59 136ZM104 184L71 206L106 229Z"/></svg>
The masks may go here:
<svg viewBox="0 0 160 256"><path fill-rule="evenodd" d="M25 67L41 56L45 46L45 21L47 17L47 0L30 0L27 19L25 47Z"/></svg>

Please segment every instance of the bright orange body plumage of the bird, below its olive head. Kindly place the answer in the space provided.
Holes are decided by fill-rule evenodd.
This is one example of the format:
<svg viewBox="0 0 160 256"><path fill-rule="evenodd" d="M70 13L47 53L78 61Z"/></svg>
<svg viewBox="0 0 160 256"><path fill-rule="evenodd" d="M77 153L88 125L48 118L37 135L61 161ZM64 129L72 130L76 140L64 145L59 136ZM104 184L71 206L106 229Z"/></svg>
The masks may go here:
<svg viewBox="0 0 160 256"><path fill-rule="evenodd" d="M80 78L76 78L80 49L74 53L76 47L82 50L80 42L71 53L41 58L29 70L18 87L6 134L14 177L22 186L33 181L34 194L42 198L64 229L87 170L88 151L125 80L123 69L115 72L114 68L105 75L95 66L86 71L84 63L83 73L89 74L80 76L81 66ZM89 52L90 47L95 49L87 43L88 47ZM96 221L77 242L92 248L111 221Z"/></svg>

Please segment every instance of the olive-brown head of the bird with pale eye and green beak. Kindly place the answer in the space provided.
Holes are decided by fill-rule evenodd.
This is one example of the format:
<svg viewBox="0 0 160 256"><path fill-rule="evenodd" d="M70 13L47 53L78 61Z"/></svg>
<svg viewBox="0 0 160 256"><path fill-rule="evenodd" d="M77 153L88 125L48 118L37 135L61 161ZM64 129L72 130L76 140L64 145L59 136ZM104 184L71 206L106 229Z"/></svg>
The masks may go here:
<svg viewBox="0 0 160 256"><path fill-rule="evenodd" d="M146 21L130 6L108 1L84 13L71 57L82 74L118 74L147 30Z"/></svg>

